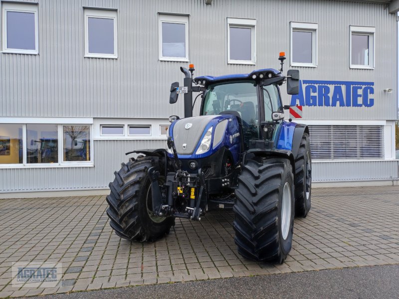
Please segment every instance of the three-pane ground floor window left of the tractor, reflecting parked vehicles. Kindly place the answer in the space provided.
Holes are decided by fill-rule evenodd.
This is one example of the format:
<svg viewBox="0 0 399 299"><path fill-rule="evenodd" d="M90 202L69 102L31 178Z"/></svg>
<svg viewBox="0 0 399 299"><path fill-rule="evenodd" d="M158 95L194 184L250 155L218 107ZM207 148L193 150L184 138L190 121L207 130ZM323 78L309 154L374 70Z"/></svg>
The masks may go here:
<svg viewBox="0 0 399 299"><path fill-rule="evenodd" d="M91 126L0 124L0 165L92 163Z"/></svg>

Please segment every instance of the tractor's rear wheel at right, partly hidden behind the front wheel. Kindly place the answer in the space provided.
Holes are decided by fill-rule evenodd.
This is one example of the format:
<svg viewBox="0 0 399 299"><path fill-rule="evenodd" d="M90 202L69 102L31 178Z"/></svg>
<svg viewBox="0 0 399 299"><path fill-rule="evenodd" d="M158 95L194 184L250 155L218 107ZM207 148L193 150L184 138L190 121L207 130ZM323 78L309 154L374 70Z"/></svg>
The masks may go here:
<svg viewBox="0 0 399 299"><path fill-rule="evenodd" d="M306 217L311 207L312 156L309 135L302 136L298 156L295 159L295 216Z"/></svg>

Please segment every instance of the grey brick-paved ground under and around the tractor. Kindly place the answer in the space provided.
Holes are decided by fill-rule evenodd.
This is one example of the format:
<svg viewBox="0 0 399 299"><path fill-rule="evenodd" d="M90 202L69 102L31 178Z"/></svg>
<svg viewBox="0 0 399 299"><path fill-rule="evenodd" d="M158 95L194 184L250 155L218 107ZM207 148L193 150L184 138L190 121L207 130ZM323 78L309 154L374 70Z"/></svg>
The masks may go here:
<svg viewBox="0 0 399 299"><path fill-rule="evenodd" d="M117 237L105 196L0 200L0 298L233 276L399 264L399 186L313 189L283 265L236 252L231 212L176 221L155 243ZM13 288L13 262L62 262L56 288Z"/></svg>

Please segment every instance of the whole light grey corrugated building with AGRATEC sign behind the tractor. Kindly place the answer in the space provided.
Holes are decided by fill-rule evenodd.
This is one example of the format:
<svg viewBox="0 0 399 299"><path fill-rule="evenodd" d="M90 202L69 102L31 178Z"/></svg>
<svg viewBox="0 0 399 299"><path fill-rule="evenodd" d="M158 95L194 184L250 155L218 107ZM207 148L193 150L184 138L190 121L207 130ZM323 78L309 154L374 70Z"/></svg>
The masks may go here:
<svg viewBox="0 0 399 299"><path fill-rule="evenodd" d="M125 152L166 147L168 117L183 116L168 101L180 66L249 73L278 68L281 51L301 73L300 95L281 94L303 106L313 182L397 184L398 10L399 0L2 0L0 196L107 192Z"/></svg>

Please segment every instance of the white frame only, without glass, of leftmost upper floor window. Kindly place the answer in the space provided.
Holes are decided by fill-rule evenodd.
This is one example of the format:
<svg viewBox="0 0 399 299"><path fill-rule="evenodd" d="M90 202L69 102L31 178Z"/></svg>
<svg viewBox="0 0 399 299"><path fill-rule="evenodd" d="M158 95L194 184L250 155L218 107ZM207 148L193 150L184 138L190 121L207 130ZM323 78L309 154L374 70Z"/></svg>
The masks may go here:
<svg viewBox="0 0 399 299"><path fill-rule="evenodd" d="M26 50L26 49L13 49L7 48L7 11L14 12L29 12L34 14L34 50ZM30 55L38 55L39 54L39 22L38 22L38 4L37 3L28 3L28 2L1 2L1 52L3 53L14 53L14 54L30 54Z"/></svg>

